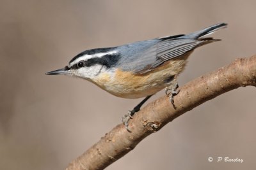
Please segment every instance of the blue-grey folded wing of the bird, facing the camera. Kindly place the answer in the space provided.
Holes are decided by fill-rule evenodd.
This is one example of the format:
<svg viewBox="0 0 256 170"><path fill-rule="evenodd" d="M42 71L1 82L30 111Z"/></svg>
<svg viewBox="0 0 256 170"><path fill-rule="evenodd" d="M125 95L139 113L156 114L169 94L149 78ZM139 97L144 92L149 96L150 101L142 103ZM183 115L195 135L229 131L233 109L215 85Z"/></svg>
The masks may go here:
<svg viewBox="0 0 256 170"><path fill-rule="evenodd" d="M118 48L122 50L119 64L124 71L143 74L155 69L167 60L180 57L211 41L212 39L204 41L187 38L152 39L119 46Z"/></svg>

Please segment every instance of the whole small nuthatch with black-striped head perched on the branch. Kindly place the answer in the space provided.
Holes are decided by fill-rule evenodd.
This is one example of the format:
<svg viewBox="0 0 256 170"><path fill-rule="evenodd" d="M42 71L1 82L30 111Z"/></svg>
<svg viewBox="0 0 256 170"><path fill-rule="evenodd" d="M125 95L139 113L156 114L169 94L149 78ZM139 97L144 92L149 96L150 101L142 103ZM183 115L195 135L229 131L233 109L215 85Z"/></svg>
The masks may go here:
<svg viewBox="0 0 256 170"><path fill-rule="evenodd" d="M134 113L160 90L165 88L166 95L175 106L173 97L179 93L177 76L184 71L189 55L199 46L220 41L205 36L225 27L226 23L220 23L190 34L85 50L73 57L67 66L45 74L83 78L117 97L145 97L122 117L129 131L129 120Z"/></svg>

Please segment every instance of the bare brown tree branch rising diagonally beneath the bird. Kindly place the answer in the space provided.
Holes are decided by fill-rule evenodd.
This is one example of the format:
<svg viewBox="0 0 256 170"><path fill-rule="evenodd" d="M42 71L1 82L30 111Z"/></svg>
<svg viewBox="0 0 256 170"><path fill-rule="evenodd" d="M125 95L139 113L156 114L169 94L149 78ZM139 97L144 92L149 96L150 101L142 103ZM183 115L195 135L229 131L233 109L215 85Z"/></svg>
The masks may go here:
<svg viewBox="0 0 256 170"><path fill-rule="evenodd" d="M174 118L216 96L248 85L256 86L256 55L236 59L228 66L181 87L174 97L176 109L166 96L147 104L130 120L129 129L132 132L128 132L123 124L116 125L98 143L73 160L67 169L104 169Z"/></svg>

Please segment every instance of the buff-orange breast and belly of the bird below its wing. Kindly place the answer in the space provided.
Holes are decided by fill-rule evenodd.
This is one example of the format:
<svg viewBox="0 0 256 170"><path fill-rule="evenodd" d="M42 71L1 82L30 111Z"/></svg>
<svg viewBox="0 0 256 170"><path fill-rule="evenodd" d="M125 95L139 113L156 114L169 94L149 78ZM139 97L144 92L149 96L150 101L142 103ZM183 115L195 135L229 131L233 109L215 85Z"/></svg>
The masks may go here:
<svg viewBox="0 0 256 170"><path fill-rule="evenodd" d="M170 85L174 75L179 74L186 60L170 60L145 74L134 74L116 69L113 72L100 73L93 83L101 89L123 98L140 98L159 92Z"/></svg>

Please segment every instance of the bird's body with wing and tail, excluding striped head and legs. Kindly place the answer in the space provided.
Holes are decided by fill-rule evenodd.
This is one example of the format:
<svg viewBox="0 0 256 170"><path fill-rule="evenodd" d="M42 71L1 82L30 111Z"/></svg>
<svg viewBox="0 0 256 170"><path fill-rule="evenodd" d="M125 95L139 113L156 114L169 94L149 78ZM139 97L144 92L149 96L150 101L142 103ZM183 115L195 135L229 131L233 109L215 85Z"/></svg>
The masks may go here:
<svg viewBox="0 0 256 170"><path fill-rule="evenodd" d="M117 46L120 52L113 74L99 74L95 84L124 98L155 94L172 83L186 66L186 59L198 47L220 39L202 38L226 24L216 24L187 35L138 41Z"/></svg>

